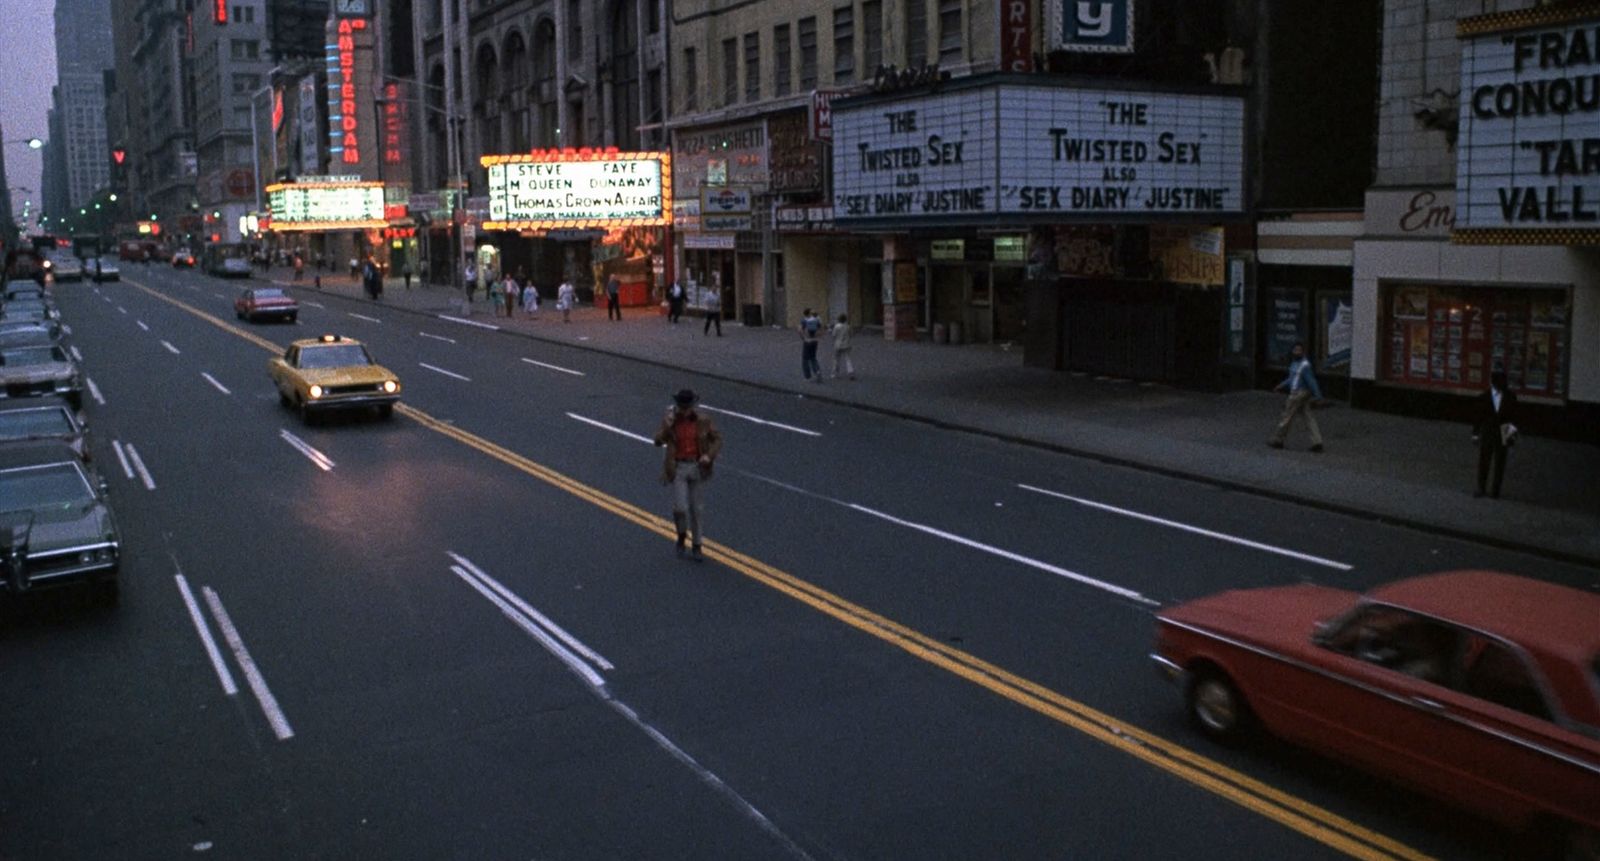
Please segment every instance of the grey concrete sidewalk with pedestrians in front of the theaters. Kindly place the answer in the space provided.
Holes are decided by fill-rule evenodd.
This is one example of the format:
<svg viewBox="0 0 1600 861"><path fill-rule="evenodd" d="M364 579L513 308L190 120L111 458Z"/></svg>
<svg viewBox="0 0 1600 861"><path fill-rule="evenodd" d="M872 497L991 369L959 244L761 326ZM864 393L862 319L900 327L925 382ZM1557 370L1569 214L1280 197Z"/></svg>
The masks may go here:
<svg viewBox="0 0 1600 861"><path fill-rule="evenodd" d="M290 283L275 269L272 280ZM310 278L294 283L310 290ZM322 293L368 302L347 277ZM445 286L386 283L382 304L427 315L461 315ZM1426 531L1485 541L1600 567L1600 447L1526 437L1512 450L1501 499L1475 499L1477 445L1464 424L1334 406L1317 413L1326 451L1307 451L1304 429L1288 448L1266 445L1283 406L1270 392L1189 392L1022 366L1021 347L890 342L856 331L858 381L808 382L798 334L723 322L702 334L701 317L667 323L656 307L629 307L608 322L582 306L562 323L554 299L539 318L491 314L482 290L475 323L771 390L866 408L1190 477ZM830 370L824 339L819 360Z"/></svg>

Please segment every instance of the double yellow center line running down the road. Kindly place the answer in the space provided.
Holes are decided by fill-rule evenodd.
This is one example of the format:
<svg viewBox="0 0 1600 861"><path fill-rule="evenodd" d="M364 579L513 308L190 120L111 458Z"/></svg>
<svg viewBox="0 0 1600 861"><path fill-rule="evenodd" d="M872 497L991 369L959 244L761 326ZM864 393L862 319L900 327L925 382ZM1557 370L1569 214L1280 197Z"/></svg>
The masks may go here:
<svg viewBox="0 0 1600 861"><path fill-rule="evenodd" d="M246 341L270 350L272 354L283 352L283 347L259 338L250 331L245 331L226 320L213 317L187 302L178 301L171 296L150 290L144 285L133 282L134 286L144 290L146 293L171 302L195 317L222 328L224 331L234 333ZM421 424L422 427L434 430L435 434L450 437L469 448L474 448L496 461L501 461L533 479L538 479L550 487L566 491L584 503L595 507L608 511L622 520L627 520L637 527L653 531L662 538L675 539L677 530L667 522L667 519L650 514L637 506L624 503L608 493L595 490L582 482L578 482L568 475L563 475L547 466L538 464L509 448L496 445L483 437L462 430L454 424L435 419L434 416L424 413L410 405L398 405L397 411ZM1259 813L1275 823L1288 826L1312 840L1339 850L1352 858L1363 858L1373 861L1382 859L1406 859L1406 861L1429 861L1429 856L1403 845L1378 832L1365 829L1333 811L1317 807L1310 802L1290 795L1280 789L1267 786L1248 775L1235 771L1210 757L1195 754L1194 751L1168 741L1162 736L1147 733L1131 723L1117 720L1101 711L1091 709L1083 703L1062 696L1037 682L1030 682L1019 675L1014 675L995 664L990 664L976 655L952 648L933 637L920 634L910 627L906 627L893 619L880 616L861 605L845 600L827 589L816 584L806 583L794 575L782 570L773 568L765 562L744 555L733 547L726 547L715 541L706 543L706 555L726 565L728 568L768 586L790 599L818 610L862 634L875 637L888 645L893 645L928 664L933 664L946 672L955 674L957 677L982 687L995 695L1000 695L1018 706L1030 709L1040 715L1045 715L1058 723L1070 727L1088 738L1099 743L1109 744L1134 759L1139 759L1149 765L1154 765L1173 776L1189 781L1208 792L1221 795L1246 810Z"/></svg>

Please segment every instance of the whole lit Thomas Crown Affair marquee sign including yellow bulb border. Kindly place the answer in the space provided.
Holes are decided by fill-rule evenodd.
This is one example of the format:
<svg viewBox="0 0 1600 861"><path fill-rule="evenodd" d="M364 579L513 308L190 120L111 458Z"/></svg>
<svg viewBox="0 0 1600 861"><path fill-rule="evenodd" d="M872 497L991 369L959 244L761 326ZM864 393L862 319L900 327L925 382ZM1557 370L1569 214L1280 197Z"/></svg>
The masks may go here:
<svg viewBox="0 0 1600 861"><path fill-rule="evenodd" d="M672 222L666 152L539 150L485 155L485 230L659 227Z"/></svg>

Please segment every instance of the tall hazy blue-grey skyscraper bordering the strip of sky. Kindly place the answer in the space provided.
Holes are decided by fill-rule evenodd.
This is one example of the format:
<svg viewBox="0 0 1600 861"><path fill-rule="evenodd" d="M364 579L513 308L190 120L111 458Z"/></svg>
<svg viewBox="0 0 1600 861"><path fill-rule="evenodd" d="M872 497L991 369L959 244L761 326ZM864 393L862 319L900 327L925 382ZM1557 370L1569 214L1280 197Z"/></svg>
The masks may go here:
<svg viewBox="0 0 1600 861"><path fill-rule="evenodd" d="M83 206L110 184L106 70L112 67L110 3L56 0L56 78L67 205Z"/></svg>

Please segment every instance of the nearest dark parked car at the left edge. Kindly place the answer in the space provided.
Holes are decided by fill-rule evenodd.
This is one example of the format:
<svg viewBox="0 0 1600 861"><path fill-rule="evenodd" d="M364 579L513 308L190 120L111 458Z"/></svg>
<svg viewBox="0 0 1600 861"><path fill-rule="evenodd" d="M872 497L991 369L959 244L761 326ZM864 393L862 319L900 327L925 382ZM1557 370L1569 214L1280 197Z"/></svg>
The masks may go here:
<svg viewBox="0 0 1600 861"><path fill-rule="evenodd" d="M106 482L64 443L0 445L0 591L88 584L117 603L122 541Z"/></svg>

